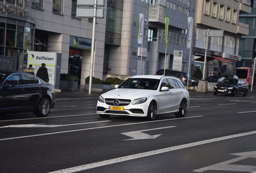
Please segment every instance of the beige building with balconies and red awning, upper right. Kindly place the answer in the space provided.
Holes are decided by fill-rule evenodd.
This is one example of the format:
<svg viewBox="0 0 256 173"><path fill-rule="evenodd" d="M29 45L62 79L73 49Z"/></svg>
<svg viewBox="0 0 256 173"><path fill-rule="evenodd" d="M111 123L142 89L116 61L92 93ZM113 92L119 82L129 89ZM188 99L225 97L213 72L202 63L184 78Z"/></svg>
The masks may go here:
<svg viewBox="0 0 256 173"><path fill-rule="evenodd" d="M234 73L235 63L241 61L239 39L249 33L248 24L239 21L239 14L250 12L250 0L197 0L193 49L195 68L203 68L205 30L223 30L223 37L209 37L206 76L217 75L218 72Z"/></svg>

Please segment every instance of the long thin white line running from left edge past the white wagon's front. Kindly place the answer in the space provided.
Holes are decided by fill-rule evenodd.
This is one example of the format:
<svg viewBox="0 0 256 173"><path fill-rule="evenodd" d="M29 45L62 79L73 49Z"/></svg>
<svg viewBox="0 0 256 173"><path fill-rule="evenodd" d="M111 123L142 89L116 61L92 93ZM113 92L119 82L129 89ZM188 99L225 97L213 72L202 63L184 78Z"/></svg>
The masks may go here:
<svg viewBox="0 0 256 173"><path fill-rule="evenodd" d="M92 127L92 128L87 128L87 129L76 129L76 130L70 130L70 131L60 131L60 132L53 132L53 133L43 133L43 134L38 134L38 135L28 135L28 136L21 136L21 137L4 138L4 139L0 139L0 141L10 140L10 139L27 138L27 137L44 136L44 135L53 135L53 134L68 133L68 132L75 132L75 131L86 131L86 130L91 130L91 129L102 129L102 128L107 128L107 127L118 127L118 126L135 125L135 124L142 124L142 123L154 123L154 122L159 122L159 121L170 121L170 120L177 120L177 119L197 118L197 117L203 117L203 116L184 117L184 118L175 118L175 119L164 119L164 120L157 120L157 121L145 121L145 122L140 122L140 123L129 123L129 124L121 124L121 125Z"/></svg>

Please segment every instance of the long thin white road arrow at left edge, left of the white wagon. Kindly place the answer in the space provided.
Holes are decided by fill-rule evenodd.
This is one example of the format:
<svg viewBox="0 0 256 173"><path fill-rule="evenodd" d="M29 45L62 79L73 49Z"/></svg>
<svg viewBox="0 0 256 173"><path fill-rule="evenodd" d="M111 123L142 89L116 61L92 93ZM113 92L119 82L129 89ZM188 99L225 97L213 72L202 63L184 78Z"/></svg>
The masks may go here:
<svg viewBox="0 0 256 173"><path fill-rule="evenodd" d="M44 124L27 124L27 125L8 125L3 126L0 128L6 128L6 127L62 127L62 126L70 126L70 125L82 125L82 124L91 124L91 123L102 123L102 122L108 122L107 121L95 121L95 122L87 122L87 123L76 123L76 124L67 124L67 125L44 125Z"/></svg>

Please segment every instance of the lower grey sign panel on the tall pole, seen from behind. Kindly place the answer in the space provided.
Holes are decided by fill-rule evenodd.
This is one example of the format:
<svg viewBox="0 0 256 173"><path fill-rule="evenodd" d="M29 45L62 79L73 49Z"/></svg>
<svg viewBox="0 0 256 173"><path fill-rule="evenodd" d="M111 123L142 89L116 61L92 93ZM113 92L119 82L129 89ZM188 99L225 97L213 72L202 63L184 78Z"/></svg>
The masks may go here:
<svg viewBox="0 0 256 173"><path fill-rule="evenodd" d="M77 7L76 8L76 17L77 18L93 18L93 7ZM104 8L97 7L96 18L103 18L104 17Z"/></svg>

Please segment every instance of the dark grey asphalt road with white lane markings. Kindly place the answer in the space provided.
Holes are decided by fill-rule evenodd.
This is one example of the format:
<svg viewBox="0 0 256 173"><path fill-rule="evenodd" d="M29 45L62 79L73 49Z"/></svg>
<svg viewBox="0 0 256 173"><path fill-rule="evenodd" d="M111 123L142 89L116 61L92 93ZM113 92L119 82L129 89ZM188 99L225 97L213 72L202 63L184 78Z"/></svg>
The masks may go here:
<svg viewBox="0 0 256 173"><path fill-rule="evenodd" d="M96 101L1 116L0 172L256 173L256 95L190 99L185 118L155 121L99 118Z"/></svg>

